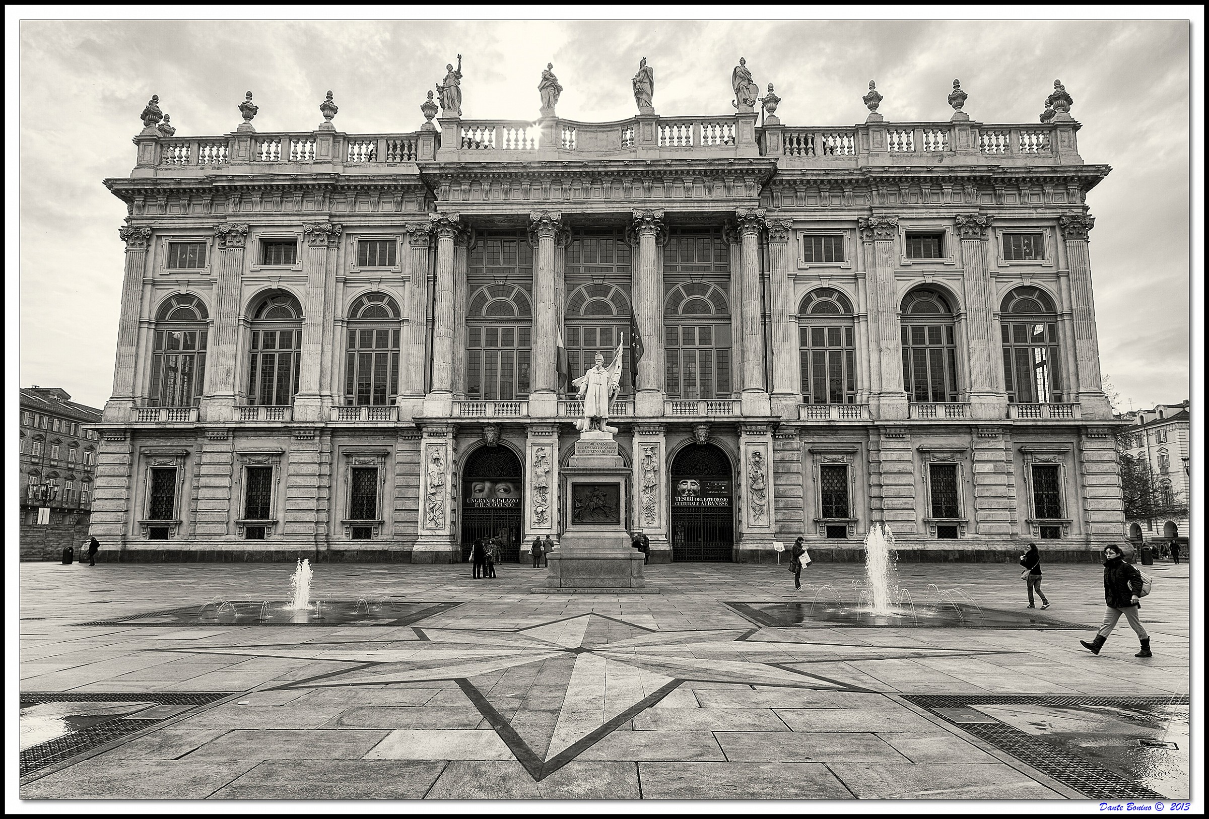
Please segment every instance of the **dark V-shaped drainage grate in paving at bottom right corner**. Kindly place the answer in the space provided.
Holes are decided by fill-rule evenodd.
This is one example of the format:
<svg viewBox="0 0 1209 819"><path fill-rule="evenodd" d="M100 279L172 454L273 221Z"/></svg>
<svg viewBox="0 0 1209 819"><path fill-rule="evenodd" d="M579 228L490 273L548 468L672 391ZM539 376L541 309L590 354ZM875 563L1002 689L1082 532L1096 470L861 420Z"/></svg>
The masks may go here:
<svg viewBox="0 0 1209 819"><path fill-rule="evenodd" d="M1186 696L1175 697L1080 697L1063 695L920 695L904 693L903 699L926 708L941 719L956 725L962 731L1006 751L1047 777L1074 788L1091 798L1103 800L1162 800L1162 794L1138 784L1101 765L1086 760L1064 748L1030 737L1010 725L994 720L964 721L960 714L970 705L1049 705L1078 708L1087 705L1112 705L1138 708L1139 705L1186 705ZM1163 747L1174 743L1164 743Z"/></svg>

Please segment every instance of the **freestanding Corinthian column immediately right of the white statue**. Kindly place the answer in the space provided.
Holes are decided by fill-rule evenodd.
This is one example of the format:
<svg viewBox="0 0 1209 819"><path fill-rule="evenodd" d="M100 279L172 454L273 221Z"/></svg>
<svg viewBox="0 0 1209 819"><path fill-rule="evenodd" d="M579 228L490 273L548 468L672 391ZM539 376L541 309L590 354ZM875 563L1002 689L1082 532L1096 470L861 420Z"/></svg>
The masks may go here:
<svg viewBox="0 0 1209 819"><path fill-rule="evenodd" d="M634 233L638 259L634 266L635 325L642 341L635 413L664 414L664 283L659 272L658 240L664 234L663 210L635 210Z"/></svg>

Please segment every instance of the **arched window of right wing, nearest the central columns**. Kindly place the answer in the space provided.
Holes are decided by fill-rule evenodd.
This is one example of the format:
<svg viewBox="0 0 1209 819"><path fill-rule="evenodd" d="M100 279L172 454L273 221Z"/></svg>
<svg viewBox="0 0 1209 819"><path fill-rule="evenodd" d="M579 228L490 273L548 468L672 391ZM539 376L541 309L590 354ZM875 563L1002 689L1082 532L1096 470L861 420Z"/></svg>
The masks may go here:
<svg viewBox="0 0 1209 819"><path fill-rule="evenodd" d="M852 302L838 290L808 292L798 306L805 403L856 402Z"/></svg>

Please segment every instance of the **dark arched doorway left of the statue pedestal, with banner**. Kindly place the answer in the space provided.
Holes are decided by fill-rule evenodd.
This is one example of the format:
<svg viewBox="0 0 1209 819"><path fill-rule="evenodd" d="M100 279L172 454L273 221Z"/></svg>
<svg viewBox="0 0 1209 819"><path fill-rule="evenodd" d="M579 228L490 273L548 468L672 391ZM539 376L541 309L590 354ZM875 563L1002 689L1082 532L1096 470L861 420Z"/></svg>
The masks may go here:
<svg viewBox="0 0 1209 819"><path fill-rule="evenodd" d="M502 560L520 559L521 493L520 459L504 446L480 447L462 469L462 559L479 538L498 538Z"/></svg>

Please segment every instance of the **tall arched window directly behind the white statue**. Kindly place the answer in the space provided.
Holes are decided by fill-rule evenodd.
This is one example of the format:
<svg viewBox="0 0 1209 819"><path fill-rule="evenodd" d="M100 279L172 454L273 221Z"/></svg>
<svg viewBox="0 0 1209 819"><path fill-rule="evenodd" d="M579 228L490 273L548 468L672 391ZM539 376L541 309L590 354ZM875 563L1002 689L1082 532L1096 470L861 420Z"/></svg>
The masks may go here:
<svg viewBox="0 0 1209 819"><path fill-rule="evenodd" d="M595 365L597 353L604 364L613 360L617 345L621 350L621 382L618 395L629 396L630 373L630 300L620 287L607 283L585 284L567 298L566 347L568 384ZM568 387L569 389L569 387Z"/></svg>

